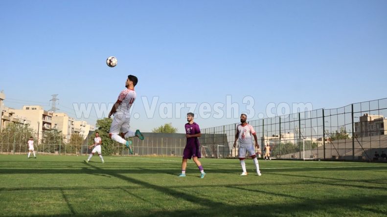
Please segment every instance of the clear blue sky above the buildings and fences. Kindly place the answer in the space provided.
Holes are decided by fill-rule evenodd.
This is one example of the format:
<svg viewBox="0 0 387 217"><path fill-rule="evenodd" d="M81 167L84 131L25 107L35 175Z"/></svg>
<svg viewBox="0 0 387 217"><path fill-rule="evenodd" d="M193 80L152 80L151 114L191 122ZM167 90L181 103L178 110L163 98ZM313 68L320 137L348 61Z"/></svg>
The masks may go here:
<svg viewBox="0 0 387 217"><path fill-rule="evenodd" d="M185 119L146 118L141 96L213 105L231 95L243 108L250 95L256 115L271 102L341 107L386 97L386 11L385 0L0 1L0 89L13 108L49 109L59 94L74 115L72 103L114 102L134 74L131 126L144 131L182 131Z"/></svg>

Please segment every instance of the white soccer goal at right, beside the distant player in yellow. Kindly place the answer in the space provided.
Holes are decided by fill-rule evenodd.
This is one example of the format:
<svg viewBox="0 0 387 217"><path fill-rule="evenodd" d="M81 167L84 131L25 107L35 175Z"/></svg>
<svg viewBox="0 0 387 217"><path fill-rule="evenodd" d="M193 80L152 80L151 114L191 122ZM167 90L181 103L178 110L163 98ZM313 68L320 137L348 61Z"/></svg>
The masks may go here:
<svg viewBox="0 0 387 217"><path fill-rule="evenodd" d="M270 157L272 159L301 159L311 160L316 157L314 148L317 147L312 139L291 139L291 140L266 140L262 147L262 155L265 156L265 146L271 147ZM316 146L316 147L315 147Z"/></svg>

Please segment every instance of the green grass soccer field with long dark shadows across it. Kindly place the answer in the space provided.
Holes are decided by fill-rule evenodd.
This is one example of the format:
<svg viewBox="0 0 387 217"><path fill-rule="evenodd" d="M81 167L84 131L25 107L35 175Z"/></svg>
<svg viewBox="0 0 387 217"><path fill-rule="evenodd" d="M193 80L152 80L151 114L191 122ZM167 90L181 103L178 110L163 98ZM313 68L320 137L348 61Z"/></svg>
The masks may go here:
<svg viewBox="0 0 387 217"><path fill-rule="evenodd" d="M0 155L0 216L386 216L387 164Z"/></svg>

